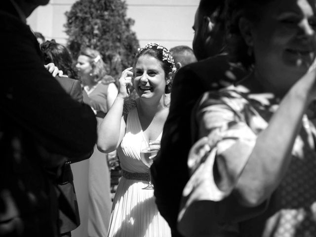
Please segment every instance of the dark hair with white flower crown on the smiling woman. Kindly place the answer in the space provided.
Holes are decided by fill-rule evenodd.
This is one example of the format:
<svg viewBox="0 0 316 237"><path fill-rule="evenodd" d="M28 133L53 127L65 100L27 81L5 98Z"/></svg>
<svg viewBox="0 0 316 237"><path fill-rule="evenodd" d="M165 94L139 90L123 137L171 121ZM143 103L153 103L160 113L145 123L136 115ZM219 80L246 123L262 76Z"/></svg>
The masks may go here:
<svg viewBox="0 0 316 237"><path fill-rule="evenodd" d="M140 48L135 56L134 68L137 62L137 59L142 55L150 55L156 59L158 59L162 63L162 69L164 71L165 79L168 77L169 73L172 73L172 77L169 83L166 84L166 88L164 92L166 94L171 92L173 76L175 72L175 65L173 62L173 58L168 49L157 44L157 43L148 43L143 48Z"/></svg>

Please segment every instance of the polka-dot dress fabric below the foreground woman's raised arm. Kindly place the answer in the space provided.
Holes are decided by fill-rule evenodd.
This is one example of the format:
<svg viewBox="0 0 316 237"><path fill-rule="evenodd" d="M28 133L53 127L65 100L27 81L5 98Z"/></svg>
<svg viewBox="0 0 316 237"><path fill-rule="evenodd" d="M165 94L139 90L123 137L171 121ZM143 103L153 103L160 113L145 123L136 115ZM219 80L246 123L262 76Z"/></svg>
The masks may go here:
<svg viewBox="0 0 316 237"><path fill-rule="evenodd" d="M309 146L304 127L297 139L303 141L301 156L293 155L279 192L281 211L275 237L316 236L316 152Z"/></svg>

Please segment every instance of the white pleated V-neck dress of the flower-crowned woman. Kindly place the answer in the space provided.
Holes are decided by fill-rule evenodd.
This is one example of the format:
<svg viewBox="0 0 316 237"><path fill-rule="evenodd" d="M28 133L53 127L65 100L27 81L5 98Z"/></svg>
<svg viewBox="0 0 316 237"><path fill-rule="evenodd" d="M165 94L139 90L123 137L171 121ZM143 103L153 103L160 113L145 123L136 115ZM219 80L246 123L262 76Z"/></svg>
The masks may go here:
<svg viewBox="0 0 316 237"><path fill-rule="evenodd" d="M161 132L162 134L162 132ZM161 134L156 140L161 139ZM148 173L140 158L145 140L136 107L127 116L126 132L118 147L122 170ZM121 177L114 197L108 237L171 237L167 222L158 212L154 190L143 190L148 181Z"/></svg>

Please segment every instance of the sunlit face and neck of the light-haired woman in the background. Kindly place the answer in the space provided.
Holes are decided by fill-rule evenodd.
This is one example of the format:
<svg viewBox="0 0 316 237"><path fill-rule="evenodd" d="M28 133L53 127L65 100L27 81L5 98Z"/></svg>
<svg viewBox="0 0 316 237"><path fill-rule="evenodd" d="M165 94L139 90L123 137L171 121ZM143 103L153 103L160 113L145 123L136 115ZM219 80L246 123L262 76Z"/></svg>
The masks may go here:
<svg viewBox="0 0 316 237"><path fill-rule="evenodd" d="M78 75L84 85L93 85L96 82L93 81L93 77L90 76L92 67L90 64L90 58L85 55L79 55L76 68Z"/></svg>

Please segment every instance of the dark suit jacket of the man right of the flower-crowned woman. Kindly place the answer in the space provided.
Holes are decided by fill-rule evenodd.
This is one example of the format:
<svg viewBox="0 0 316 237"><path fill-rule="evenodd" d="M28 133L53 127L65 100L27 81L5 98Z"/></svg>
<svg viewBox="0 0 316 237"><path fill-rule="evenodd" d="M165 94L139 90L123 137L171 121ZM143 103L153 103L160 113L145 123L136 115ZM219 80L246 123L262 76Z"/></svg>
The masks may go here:
<svg viewBox="0 0 316 237"><path fill-rule="evenodd" d="M151 167L158 210L176 230L182 190L189 180L188 153L195 142L191 134L191 112L199 97L243 78L245 72L219 55L189 64L175 75L170 110L164 124L161 148Z"/></svg>

